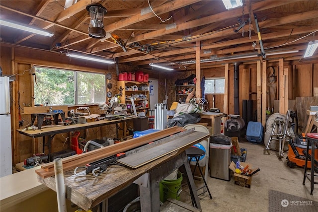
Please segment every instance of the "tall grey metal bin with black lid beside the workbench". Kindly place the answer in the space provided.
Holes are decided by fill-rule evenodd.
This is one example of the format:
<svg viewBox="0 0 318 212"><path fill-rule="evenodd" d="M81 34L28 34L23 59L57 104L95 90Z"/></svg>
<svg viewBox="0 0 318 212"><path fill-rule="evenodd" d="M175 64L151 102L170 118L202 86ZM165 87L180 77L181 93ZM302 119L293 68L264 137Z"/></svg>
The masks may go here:
<svg viewBox="0 0 318 212"><path fill-rule="evenodd" d="M210 177L231 180L231 138L224 135L210 137Z"/></svg>

